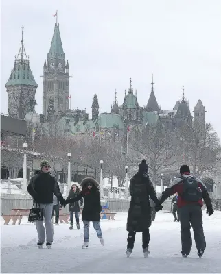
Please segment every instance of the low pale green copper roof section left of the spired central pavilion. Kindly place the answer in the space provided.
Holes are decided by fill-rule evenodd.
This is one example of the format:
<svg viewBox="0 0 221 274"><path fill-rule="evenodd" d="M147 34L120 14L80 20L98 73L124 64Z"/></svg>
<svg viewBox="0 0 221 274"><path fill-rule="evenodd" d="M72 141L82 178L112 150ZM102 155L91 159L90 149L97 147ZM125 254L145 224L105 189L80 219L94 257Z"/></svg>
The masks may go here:
<svg viewBox="0 0 221 274"><path fill-rule="evenodd" d="M117 114L101 113L97 119L97 124L100 128L114 128L124 129L124 123L121 116Z"/></svg>

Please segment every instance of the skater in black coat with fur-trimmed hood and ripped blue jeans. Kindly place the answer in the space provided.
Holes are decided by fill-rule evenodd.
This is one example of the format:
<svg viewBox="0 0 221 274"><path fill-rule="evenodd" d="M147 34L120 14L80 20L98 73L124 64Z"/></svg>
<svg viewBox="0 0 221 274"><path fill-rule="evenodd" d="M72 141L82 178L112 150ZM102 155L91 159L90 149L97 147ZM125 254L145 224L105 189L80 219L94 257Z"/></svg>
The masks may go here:
<svg viewBox="0 0 221 274"><path fill-rule="evenodd" d="M93 228L97 232L97 237L100 239L102 245L104 245L104 239L102 236L102 230L100 228L100 212L102 206L100 204L100 192L99 183L92 177L87 177L81 182L82 191L77 197L67 199L67 203L74 203L84 198L84 208L82 211L82 220L84 223L84 245L83 248L89 246L89 227L90 221L93 223Z"/></svg>

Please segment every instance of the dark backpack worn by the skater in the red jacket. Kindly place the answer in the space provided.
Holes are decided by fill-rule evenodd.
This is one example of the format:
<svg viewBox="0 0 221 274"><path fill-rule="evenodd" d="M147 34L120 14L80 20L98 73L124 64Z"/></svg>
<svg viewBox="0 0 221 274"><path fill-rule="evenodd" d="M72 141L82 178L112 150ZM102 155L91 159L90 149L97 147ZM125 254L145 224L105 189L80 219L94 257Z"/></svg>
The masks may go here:
<svg viewBox="0 0 221 274"><path fill-rule="evenodd" d="M194 176L184 177L183 180L183 194L182 197L185 201L199 201L202 199L202 190L198 186L198 181Z"/></svg>

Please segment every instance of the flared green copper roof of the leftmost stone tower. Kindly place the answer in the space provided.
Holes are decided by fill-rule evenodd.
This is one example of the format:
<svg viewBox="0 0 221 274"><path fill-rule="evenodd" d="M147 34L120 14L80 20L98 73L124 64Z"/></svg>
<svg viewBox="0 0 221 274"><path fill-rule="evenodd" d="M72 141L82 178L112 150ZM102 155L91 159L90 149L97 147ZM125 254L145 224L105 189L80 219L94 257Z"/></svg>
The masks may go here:
<svg viewBox="0 0 221 274"><path fill-rule="evenodd" d="M11 75L8 79L8 82L5 84L7 86L15 85L28 85L38 87L38 84L35 82L34 76L29 66L29 60L16 60L14 63L14 69L11 72Z"/></svg>

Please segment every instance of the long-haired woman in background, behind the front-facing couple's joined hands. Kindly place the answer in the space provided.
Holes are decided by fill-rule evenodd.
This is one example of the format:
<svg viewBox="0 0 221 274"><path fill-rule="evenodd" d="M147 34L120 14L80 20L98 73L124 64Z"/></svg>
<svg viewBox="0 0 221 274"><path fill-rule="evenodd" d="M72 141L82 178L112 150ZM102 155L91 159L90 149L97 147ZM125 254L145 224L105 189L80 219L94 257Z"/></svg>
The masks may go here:
<svg viewBox="0 0 221 274"><path fill-rule="evenodd" d="M78 183L74 183L74 182L71 182L71 183L72 183L72 186L69 191L69 195L68 195L67 199L77 197L81 191ZM83 198L80 199L80 206L83 206ZM75 203L69 204L70 221L71 221L70 229L73 229L73 213L75 214L77 229L80 229L80 223L79 223L80 206L79 206L79 201L75 201Z"/></svg>

